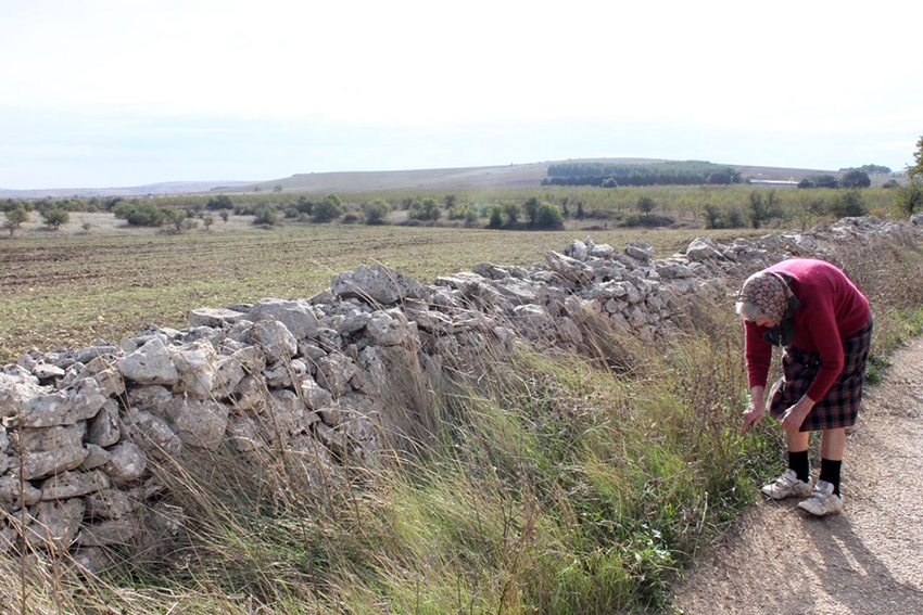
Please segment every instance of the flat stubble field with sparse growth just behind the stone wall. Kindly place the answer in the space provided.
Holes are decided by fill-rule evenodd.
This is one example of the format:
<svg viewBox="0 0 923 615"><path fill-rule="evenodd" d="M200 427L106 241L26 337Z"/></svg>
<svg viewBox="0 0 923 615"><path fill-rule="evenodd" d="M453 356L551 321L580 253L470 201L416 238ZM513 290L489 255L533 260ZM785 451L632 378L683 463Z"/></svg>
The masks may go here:
<svg viewBox="0 0 923 615"><path fill-rule="evenodd" d="M658 256L696 236L716 241L764 231L618 230L491 231L465 228L289 225L261 230L243 216L213 230L126 230L110 214L92 216L89 233L74 220L62 231L26 229L0 240L0 363L29 348L42 351L117 342L149 323L186 325L199 307L264 297L309 297L341 271L381 262L415 279L472 265L530 265L587 234L622 248L645 241Z"/></svg>

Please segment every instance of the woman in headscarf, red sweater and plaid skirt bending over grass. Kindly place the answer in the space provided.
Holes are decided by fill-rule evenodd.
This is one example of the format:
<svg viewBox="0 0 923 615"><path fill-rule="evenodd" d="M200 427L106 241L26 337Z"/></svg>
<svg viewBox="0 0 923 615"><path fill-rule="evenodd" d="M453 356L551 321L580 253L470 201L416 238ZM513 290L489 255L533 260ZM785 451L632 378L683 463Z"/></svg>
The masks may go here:
<svg viewBox="0 0 923 615"><path fill-rule="evenodd" d="M869 302L833 265L793 259L748 278L736 310L746 321L750 386L742 433L769 409L788 444L788 470L762 492L774 500L805 498L798 507L817 516L838 514L845 427L859 415L872 338ZM783 376L767 400L774 345L784 348ZM811 489L808 440L818 430L823 434L821 473Z"/></svg>

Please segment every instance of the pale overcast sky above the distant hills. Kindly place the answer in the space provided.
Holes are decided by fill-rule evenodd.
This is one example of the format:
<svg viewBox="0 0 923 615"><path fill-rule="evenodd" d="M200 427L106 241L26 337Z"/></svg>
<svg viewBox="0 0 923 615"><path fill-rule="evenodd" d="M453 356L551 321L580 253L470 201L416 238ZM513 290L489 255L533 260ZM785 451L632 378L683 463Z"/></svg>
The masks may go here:
<svg viewBox="0 0 923 615"><path fill-rule="evenodd" d="M658 157L901 170L920 2L0 0L0 188Z"/></svg>

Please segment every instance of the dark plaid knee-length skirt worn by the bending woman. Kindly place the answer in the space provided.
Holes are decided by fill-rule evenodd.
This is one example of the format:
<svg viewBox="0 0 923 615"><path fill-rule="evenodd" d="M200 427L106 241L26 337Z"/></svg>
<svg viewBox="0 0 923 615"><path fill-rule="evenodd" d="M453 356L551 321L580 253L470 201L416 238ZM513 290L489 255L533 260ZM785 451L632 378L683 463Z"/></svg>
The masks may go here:
<svg viewBox="0 0 923 615"><path fill-rule="evenodd" d="M856 424L871 343L871 320L864 329L843 339L843 371L823 399L808 413L800 431L837 430ZM781 421L785 411L808 392L820 367L819 353L806 353L794 346L785 348L782 353L782 383L769 403L769 412L774 419Z"/></svg>

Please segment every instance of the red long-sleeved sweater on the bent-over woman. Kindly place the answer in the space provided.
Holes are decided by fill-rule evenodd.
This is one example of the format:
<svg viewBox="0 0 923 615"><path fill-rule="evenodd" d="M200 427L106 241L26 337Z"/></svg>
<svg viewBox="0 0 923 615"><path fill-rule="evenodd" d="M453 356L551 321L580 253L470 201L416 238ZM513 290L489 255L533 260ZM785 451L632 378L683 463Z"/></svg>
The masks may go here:
<svg viewBox="0 0 923 615"><path fill-rule="evenodd" d="M801 305L792 317L795 328L792 345L820 354L821 368L807 393L811 400L820 401L843 371L840 339L858 333L872 318L869 300L843 271L823 260L783 260L766 271L787 273L793 278L789 287ZM746 322L750 387L766 386L769 374L772 345L763 339L766 331L764 326Z"/></svg>

